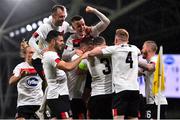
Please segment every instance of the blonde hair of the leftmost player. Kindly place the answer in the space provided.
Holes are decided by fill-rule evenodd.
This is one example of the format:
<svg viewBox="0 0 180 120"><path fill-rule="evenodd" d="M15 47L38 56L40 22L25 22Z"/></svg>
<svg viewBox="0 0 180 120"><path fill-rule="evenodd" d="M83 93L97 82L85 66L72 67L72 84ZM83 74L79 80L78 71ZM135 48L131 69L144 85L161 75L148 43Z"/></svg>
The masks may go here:
<svg viewBox="0 0 180 120"><path fill-rule="evenodd" d="M20 43L20 56L25 58L26 49L30 47L25 39L23 39Z"/></svg>

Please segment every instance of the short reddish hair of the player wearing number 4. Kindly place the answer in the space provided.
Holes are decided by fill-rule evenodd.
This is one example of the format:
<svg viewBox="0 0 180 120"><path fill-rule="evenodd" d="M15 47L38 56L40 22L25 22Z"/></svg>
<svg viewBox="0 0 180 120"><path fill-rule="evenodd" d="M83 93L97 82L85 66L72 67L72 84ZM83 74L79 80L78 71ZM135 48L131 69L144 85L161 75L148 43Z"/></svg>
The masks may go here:
<svg viewBox="0 0 180 120"><path fill-rule="evenodd" d="M116 35L123 38L122 40L129 40L129 33L125 29L117 29Z"/></svg>

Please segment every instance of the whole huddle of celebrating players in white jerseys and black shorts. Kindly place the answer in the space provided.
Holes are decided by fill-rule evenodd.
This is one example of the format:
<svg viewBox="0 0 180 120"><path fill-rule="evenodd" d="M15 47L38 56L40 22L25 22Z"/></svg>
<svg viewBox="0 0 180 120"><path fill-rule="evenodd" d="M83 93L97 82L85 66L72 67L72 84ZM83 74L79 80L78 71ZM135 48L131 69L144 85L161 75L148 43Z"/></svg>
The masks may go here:
<svg viewBox="0 0 180 120"><path fill-rule="evenodd" d="M93 7L85 11L100 22L87 26L76 15L69 25L66 8L55 5L29 42L22 41L25 61L15 67L9 80L17 83L16 119L156 118L157 96L152 94L156 43L148 40L140 51L129 44L127 30L120 28L114 45L108 46L100 33L110 20ZM145 76L145 109L140 109L138 75ZM161 104L161 118L165 118L163 94Z"/></svg>

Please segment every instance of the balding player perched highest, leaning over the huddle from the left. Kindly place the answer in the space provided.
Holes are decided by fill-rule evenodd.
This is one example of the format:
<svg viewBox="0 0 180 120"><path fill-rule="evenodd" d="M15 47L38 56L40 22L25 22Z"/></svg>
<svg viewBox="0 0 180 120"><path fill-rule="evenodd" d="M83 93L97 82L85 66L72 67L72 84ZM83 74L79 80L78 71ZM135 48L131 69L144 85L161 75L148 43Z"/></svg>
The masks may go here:
<svg viewBox="0 0 180 120"><path fill-rule="evenodd" d="M63 5L55 5L52 7L51 16L46 23L43 23L39 28L33 33L29 40L29 45L35 49L33 54L32 64L37 70L40 77L44 80L44 73L42 69L41 58L43 53L47 50L46 36L49 31L57 30L61 33L66 33L71 31L69 23L65 21L67 17L67 11Z"/></svg>

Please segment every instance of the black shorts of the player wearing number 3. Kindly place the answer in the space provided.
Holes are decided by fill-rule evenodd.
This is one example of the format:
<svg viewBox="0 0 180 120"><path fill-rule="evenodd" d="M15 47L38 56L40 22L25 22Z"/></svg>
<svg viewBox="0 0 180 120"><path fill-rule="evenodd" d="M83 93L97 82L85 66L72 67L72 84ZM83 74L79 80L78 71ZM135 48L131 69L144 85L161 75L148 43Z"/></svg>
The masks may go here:
<svg viewBox="0 0 180 120"><path fill-rule="evenodd" d="M112 94L90 97L88 117L90 119L112 119Z"/></svg>

